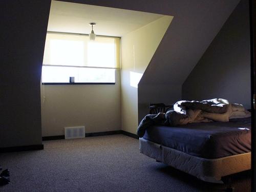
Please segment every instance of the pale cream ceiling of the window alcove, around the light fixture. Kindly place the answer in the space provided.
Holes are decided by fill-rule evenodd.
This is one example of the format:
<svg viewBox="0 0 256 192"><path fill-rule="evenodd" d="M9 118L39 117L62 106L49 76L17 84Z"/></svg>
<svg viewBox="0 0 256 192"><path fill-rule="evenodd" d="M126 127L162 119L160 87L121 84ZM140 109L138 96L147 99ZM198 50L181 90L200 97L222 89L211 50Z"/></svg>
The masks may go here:
<svg viewBox="0 0 256 192"><path fill-rule="evenodd" d="M164 15L60 1L52 1L48 31L91 32L89 23L96 23L96 35L121 37Z"/></svg>

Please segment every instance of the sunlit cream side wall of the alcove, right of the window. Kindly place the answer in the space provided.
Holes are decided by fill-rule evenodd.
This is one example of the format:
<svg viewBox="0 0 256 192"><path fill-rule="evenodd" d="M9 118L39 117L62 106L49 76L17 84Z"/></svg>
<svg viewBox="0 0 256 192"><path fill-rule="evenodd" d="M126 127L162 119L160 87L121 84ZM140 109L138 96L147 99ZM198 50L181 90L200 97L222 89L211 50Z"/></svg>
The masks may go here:
<svg viewBox="0 0 256 192"><path fill-rule="evenodd" d="M126 132L135 134L138 126L138 89L131 86L135 79L130 74L144 73L172 19L163 16L121 38L121 116Z"/></svg>

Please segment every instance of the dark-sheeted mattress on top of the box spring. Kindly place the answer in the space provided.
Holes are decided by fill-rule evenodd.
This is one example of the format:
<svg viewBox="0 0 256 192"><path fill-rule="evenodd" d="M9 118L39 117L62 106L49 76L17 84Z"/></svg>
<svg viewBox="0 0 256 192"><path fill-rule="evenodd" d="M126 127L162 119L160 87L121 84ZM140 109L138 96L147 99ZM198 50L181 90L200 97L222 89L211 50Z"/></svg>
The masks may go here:
<svg viewBox="0 0 256 192"><path fill-rule="evenodd" d="M243 154L251 151L251 118L175 127L154 125L143 139L207 159Z"/></svg>

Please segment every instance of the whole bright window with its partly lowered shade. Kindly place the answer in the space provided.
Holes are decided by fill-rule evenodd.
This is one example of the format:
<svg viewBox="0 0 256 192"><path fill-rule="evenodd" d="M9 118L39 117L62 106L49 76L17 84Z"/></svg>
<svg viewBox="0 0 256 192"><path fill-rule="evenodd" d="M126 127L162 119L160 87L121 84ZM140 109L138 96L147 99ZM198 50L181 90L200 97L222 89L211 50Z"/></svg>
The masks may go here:
<svg viewBox="0 0 256 192"><path fill-rule="evenodd" d="M48 32L42 83L115 83L120 68L120 38Z"/></svg>

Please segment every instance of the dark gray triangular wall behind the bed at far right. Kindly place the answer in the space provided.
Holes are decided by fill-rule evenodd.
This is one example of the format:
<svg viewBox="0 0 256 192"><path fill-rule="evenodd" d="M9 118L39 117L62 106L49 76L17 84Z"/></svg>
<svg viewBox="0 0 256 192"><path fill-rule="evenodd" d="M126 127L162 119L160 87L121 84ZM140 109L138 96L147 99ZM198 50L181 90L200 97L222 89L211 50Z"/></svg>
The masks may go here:
<svg viewBox="0 0 256 192"><path fill-rule="evenodd" d="M182 86L182 99L225 98L250 109L249 5L242 0Z"/></svg>

